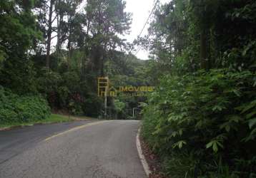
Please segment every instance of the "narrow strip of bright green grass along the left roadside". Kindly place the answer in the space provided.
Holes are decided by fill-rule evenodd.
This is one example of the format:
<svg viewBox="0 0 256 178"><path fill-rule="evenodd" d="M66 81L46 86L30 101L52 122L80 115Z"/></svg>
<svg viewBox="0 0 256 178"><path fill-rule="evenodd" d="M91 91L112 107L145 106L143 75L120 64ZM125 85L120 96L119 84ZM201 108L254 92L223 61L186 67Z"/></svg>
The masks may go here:
<svg viewBox="0 0 256 178"><path fill-rule="evenodd" d="M6 124L0 124L0 128L9 128L9 127L15 127L15 126L29 126L34 124L49 124L49 123L56 123L56 122L69 122L74 120L73 117L68 117L67 115L56 115L51 114L50 117L44 119L44 120L35 120L31 122L11 122Z"/></svg>

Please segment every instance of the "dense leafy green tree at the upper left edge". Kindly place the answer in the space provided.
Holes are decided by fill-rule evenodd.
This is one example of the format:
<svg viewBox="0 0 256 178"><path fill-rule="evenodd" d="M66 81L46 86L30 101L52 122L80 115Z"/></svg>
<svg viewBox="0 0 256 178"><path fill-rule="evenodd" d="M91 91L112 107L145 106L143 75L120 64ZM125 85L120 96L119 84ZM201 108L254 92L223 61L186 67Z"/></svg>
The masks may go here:
<svg viewBox="0 0 256 178"><path fill-rule="evenodd" d="M18 93L35 90L31 52L41 39L32 14L33 1L0 2L1 85Z"/></svg>

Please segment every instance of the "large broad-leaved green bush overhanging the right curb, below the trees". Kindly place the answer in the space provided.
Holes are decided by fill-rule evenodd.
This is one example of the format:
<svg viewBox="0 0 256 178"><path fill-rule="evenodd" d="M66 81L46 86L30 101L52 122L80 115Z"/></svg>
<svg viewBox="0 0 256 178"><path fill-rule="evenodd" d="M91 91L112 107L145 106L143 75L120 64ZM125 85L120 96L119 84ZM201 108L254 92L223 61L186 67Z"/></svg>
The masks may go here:
<svg viewBox="0 0 256 178"><path fill-rule="evenodd" d="M183 177L255 176L255 85L250 71L164 77L143 111L142 136L162 157L176 155L168 164L184 164L175 167L187 167ZM180 161L185 152L192 161Z"/></svg>

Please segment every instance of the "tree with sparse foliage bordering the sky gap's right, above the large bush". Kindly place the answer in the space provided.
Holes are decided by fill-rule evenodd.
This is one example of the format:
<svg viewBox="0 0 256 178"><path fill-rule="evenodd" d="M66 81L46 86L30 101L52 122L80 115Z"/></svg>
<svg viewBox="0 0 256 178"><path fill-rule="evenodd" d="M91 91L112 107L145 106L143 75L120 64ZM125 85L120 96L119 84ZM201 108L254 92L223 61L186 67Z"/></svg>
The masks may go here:
<svg viewBox="0 0 256 178"><path fill-rule="evenodd" d="M150 51L150 57L157 61L157 68L168 73L174 70L177 56L184 52L188 43L187 1L170 1L157 6L150 23L149 37L140 39Z"/></svg>

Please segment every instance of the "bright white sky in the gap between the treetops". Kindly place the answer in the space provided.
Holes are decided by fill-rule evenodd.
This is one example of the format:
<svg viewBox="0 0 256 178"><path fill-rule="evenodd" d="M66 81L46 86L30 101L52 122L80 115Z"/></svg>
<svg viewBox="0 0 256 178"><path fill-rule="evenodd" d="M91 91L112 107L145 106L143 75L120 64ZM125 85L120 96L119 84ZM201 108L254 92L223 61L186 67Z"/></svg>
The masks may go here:
<svg viewBox="0 0 256 178"><path fill-rule="evenodd" d="M170 0L160 0L159 2L161 4L164 4L169 1ZM127 36L124 36L124 38L127 38L127 41L132 43L134 39L137 38L140 31L142 31L144 23L147 21L147 18L149 17L149 14L154 7L155 0L126 0L126 2L127 2L126 11L132 13L132 25L130 30L131 33L129 33L129 35ZM142 32L142 37L147 35L148 27L149 27L149 24L147 24L147 26L144 28L144 31ZM148 55L149 55L149 51L144 51L143 49L141 49L139 53L137 53L137 58L140 58L142 60L147 60Z"/></svg>

